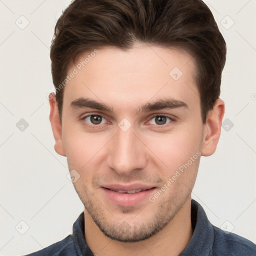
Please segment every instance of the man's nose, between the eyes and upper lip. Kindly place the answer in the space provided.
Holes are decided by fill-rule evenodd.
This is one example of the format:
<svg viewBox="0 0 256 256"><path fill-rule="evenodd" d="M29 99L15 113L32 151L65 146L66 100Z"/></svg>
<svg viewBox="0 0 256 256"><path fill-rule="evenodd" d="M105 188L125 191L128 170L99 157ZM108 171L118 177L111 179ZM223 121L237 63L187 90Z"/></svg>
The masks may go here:
<svg viewBox="0 0 256 256"><path fill-rule="evenodd" d="M133 125L126 131L117 127L115 136L108 143L108 152L108 167L120 175L129 175L146 166L146 146L135 134Z"/></svg>

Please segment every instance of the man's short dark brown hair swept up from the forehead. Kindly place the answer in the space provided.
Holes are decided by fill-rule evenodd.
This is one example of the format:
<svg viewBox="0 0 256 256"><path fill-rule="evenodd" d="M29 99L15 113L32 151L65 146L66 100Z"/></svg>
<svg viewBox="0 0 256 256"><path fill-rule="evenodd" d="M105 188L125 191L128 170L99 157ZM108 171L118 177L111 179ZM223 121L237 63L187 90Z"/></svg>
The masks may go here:
<svg viewBox="0 0 256 256"><path fill-rule="evenodd" d="M79 54L102 46L125 50L135 42L182 48L194 57L205 123L220 94L226 44L201 0L73 0L57 20L51 44L55 88ZM56 91L60 118L63 90Z"/></svg>

